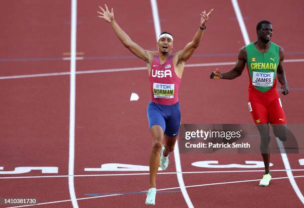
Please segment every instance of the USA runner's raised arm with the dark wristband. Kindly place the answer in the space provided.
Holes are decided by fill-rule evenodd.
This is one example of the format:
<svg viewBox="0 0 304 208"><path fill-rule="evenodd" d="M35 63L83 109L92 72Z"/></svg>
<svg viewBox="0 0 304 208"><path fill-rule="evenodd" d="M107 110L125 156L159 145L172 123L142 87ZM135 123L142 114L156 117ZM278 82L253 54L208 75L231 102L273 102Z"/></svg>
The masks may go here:
<svg viewBox="0 0 304 208"><path fill-rule="evenodd" d="M211 16L212 11L213 11L213 9L211 9L208 12L208 14L206 14L206 11L203 11L201 13L202 17L201 17L200 28L202 28L203 30L198 29L198 31L195 33L195 35L193 37L193 40L190 43L188 43L182 51L176 52L176 56L178 57L178 62L187 61L191 57L194 50L199 46L201 39L205 32L204 28L206 27L206 23L209 20L209 17Z"/></svg>

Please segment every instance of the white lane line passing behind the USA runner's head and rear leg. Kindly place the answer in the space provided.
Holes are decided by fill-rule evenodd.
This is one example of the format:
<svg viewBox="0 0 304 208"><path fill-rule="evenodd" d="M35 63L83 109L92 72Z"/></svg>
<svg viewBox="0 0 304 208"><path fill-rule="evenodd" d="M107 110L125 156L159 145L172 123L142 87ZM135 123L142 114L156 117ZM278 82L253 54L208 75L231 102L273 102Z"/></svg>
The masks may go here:
<svg viewBox="0 0 304 208"><path fill-rule="evenodd" d="M157 8L157 1L156 0L151 0L151 7L152 7L152 14L153 14L153 21L154 21L154 28L155 28L155 36L156 36L156 42L158 41L158 36L160 35L160 23L159 23L159 15L158 15L158 8ZM189 208L193 208L193 205L191 203L191 200L189 198L189 195L187 193L187 190L185 188L183 176L182 176L182 171L181 171L181 163L180 163L180 158L179 158L179 150L178 150L178 145L177 141L175 143L175 148L174 148L174 160L175 160L175 166L176 166L176 176L178 180L178 184L180 186L180 190L183 194L183 197L187 203L187 206Z"/></svg>

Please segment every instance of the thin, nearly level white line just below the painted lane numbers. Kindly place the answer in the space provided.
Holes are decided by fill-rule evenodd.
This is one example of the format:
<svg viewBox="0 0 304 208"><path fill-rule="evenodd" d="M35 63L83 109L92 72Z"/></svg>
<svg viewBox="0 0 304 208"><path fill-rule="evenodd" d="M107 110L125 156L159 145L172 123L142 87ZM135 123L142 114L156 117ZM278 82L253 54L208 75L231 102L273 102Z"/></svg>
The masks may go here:
<svg viewBox="0 0 304 208"><path fill-rule="evenodd" d="M242 173L242 172L264 172L265 170L222 170L222 171L192 171L181 172L182 174L199 174L199 173ZM271 172L285 172L286 170L271 170ZM304 169L293 169L291 171L304 171ZM158 175L177 174L177 172L159 172ZM149 173L117 173L117 174L90 174L90 175L74 175L74 177L99 177L99 176L132 176L132 175L149 175ZM63 178L69 175L46 175L46 176L13 176L0 177L0 179L22 179L22 178Z"/></svg>

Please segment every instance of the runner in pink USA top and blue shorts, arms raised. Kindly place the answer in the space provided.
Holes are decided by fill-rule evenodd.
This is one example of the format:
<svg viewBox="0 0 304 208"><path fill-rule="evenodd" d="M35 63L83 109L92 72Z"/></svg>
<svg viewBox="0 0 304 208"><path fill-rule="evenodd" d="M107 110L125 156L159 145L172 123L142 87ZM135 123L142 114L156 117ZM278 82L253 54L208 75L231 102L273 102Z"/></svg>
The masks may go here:
<svg viewBox="0 0 304 208"><path fill-rule="evenodd" d="M100 6L99 6L100 7ZM180 108L178 103L178 88L181 82L185 61L187 61L194 50L199 46L201 38L206 29L206 22L213 9L207 14L202 12L198 31L193 40L188 43L182 51L171 53L173 48L173 37L170 33L163 32L159 35L158 54L144 50L134 43L131 38L119 27L114 20L113 8L108 10L100 7L102 12L100 18L111 24L112 29L119 40L136 56L147 63L151 101L148 104L147 113L149 128L152 134L152 151L150 156L150 189L147 194L146 204L155 204L156 184L155 178L158 167L163 170L168 166L168 155L173 151L179 132ZM162 146L163 138L165 145ZM161 160L160 160L161 157Z"/></svg>

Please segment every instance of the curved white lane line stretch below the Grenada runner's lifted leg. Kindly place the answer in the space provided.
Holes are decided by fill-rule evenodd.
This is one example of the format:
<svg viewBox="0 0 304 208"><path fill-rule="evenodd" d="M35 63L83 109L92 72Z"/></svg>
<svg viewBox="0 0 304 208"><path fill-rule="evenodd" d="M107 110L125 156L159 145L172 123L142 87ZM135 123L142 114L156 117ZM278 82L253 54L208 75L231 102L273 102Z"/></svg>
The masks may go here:
<svg viewBox="0 0 304 208"><path fill-rule="evenodd" d="M276 137L276 140L277 140L277 143L278 143L278 146L280 148L280 152L281 152L281 156L282 156L282 160L283 160L283 163L284 163L284 166L285 166L285 169L286 169L286 173L287 173L287 176L288 176L288 179L292 185L292 187L294 188L297 196L299 197L299 199L301 200L302 204L304 204L304 197L294 179L294 175L293 175L293 172L291 171L291 167L290 167L290 164L289 164L289 160L288 160L288 157L287 157L287 154L285 152L285 149L284 149L284 145L283 143L280 141L279 138Z"/></svg>

